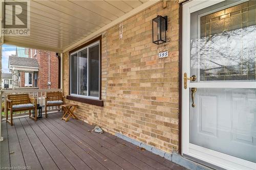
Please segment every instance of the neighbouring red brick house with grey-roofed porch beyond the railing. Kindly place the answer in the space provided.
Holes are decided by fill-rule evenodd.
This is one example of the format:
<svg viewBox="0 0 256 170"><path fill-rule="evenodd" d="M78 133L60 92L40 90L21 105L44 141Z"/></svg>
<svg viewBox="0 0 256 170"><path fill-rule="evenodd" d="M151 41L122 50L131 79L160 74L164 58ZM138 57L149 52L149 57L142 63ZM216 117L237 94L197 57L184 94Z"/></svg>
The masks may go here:
<svg viewBox="0 0 256 170"><path fill-rule="evenodd" d="M58 88L59 70L56 53L17 47L16 55L18 56L9 56L9 69L15 79L14 88ZM18 72L15 71L17 67Z"/></svg>

